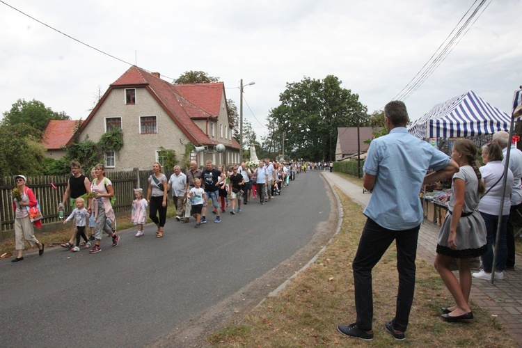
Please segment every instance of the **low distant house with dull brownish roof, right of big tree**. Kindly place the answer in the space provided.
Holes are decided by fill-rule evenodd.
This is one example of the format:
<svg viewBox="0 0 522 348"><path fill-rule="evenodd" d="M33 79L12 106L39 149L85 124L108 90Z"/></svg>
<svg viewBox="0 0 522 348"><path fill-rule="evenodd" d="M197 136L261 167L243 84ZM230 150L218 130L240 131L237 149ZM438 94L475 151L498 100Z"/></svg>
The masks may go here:
<svg viewBox="0 0 522 348"><path fill-rule="evenodd" d="M376 129L378 130L380 127ZM337 145L335 145L335 161L342 161L351 155L356 155L359 150L361 153L366 152L370 144L364 141L373 139L373 132L374 129L372 127L338 127ZM357 139L359 139L358 144Z"/></svg>

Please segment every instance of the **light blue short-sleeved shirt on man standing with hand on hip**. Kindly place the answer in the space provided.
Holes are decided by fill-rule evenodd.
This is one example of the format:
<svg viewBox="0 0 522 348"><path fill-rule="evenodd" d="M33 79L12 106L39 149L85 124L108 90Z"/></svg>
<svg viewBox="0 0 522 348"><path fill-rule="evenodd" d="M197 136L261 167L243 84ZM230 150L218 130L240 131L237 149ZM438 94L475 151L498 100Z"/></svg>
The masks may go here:
<svg viewBox="0 0 522 348"><path fill-rule="evenodd" d="M438 171L451 158L404 127L374 139L363 171L377 176L372 198L364 214L388 230L409 230L423 219L419 193L429 168Z"/></svg>

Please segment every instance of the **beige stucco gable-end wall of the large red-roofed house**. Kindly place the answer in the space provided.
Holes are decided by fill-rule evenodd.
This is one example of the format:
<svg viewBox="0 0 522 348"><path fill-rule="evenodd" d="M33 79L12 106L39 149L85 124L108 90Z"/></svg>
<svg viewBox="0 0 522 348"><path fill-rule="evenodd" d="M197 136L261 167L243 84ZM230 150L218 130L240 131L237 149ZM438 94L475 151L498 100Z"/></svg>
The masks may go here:
<svg viewBox="0 0 522 348"><path fill-rule="evenodd" d="M140 134L140 116L157 116L157 134ZM136 88L134 105L125 105L125 88L111 90L81 132L80 141L84 141L87 136L92 141L99 141L105 132L105 118L108 117L122 118L124 143L119 155L116 155L116 167L108 168L108 171L152 168L160 146L175 150L177 159L181 161L184 144L191 143L145 88Z"/></svg>

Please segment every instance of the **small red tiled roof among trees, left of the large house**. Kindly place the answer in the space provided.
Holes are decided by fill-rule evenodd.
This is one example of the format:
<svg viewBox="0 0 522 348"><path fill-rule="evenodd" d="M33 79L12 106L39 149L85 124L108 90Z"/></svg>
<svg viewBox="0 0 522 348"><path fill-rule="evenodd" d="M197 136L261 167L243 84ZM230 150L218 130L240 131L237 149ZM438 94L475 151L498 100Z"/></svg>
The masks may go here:
<svg viewBox="0 0 522 348"><path fill-rule="evenodd" d="M72 141L78 122L77 120L49 120L42 136L42 143L49 157L61 159L65 155L63 147Z"/></svg>

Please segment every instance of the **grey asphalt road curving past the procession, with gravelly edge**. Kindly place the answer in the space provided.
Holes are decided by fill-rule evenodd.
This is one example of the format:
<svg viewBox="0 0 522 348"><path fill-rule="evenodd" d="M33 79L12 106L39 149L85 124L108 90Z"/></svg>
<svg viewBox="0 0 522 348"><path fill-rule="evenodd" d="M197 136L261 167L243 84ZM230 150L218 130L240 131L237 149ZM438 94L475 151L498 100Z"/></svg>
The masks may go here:
<svg viewBox="0 0 522 348"><path fill-rule="evenodd" d="M2 347L141 347L201 339L242 315L303 267L333 235L336 210L318 172L241 214L214 215L198 230L169 219L83 248L0 261ZM333 208L332 208L333 207ZM199 336L199 337L196 337ZM188 341L183 341L188 340ZM177 343L174 343L177 342ZM192 343L191 343L192 344Z"/></svg>

